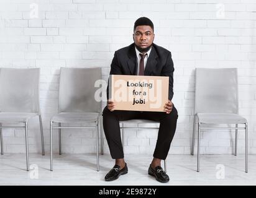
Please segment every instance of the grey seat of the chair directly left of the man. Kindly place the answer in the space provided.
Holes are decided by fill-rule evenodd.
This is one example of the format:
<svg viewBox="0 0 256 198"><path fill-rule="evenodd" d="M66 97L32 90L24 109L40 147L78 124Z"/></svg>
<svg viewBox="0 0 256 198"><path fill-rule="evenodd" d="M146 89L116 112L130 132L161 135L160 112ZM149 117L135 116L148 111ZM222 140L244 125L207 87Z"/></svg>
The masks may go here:
<svg viewBox="0 0 256 198"><path fill-rule="evenodd" d="M63 112L53 116L55 123L92 123L98 121L99 113L91 112Z"/></svg>

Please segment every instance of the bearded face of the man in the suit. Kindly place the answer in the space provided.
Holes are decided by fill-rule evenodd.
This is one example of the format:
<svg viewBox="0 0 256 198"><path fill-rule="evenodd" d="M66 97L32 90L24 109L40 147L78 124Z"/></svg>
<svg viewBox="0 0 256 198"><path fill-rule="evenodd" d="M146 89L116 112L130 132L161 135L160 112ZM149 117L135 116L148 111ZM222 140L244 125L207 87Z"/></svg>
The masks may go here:
<svg viewBox="0 0 256 198"><path fill-rule="evenodd" d="M152 45L155 34L149 25L139 25L136 27L133 37L135 45L141 49L147 49Z"/></svg>

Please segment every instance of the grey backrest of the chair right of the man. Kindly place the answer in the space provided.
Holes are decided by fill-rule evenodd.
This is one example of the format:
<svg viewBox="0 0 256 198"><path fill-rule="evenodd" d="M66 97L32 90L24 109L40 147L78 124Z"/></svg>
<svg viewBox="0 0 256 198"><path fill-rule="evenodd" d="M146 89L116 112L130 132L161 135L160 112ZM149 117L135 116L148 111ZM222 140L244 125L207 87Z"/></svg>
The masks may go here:
<svg viewBox="0 0 256 198"><path fill-rule="evenodd" d="M196 68L196 113L238 113L237 69Z"/></svg>

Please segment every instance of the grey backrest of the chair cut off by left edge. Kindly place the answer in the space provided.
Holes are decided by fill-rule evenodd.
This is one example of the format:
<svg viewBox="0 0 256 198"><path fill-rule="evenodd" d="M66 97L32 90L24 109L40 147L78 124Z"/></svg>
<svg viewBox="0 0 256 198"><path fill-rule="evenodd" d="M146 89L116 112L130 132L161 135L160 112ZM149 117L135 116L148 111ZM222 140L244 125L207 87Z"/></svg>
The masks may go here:
<svg viewBox="0 0 256 198"><path fill-rule="evenodd" d="M40 68L0 69L0 111L39 113Z"/></svg>

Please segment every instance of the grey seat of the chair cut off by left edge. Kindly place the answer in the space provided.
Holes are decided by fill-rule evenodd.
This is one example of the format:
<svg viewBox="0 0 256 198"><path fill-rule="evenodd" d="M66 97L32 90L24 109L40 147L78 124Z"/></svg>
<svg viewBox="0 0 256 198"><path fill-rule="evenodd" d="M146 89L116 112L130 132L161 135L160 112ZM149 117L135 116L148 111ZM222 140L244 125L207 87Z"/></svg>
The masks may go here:
<svg viewBox="0 0 256 198"><path fill-rule="evenodd" d="M27 123L37 113L0 112L0 123Z"/></svg>

